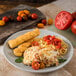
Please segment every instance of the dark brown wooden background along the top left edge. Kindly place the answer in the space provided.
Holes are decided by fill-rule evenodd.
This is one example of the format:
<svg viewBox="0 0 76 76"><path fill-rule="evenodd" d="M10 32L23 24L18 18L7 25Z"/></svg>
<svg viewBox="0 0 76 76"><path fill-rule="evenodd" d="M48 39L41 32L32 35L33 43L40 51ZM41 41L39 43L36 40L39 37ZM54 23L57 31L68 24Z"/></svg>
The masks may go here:
<svg viewBox="0 0 76 76"><path fill-rule="evenodd" d="M55 0L0 0L0 14L19 4L27 4L33 7L39 7Z"/></svg>

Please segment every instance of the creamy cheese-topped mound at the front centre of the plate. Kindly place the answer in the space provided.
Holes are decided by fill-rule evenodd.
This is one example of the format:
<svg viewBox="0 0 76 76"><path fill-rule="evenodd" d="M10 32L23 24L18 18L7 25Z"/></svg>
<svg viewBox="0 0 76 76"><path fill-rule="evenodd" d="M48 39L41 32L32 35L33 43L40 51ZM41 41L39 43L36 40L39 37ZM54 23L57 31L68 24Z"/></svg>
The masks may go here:
<svg viewBox="0 0 76 76"><path fill-rule="evenodd" d="M23 63L31 65L33 61L39 63L43 62L46 67L51 66L53 63L58 63L57 57L59 53L50 46L41 48L39 46L32 46L25 50Z"/></svg>

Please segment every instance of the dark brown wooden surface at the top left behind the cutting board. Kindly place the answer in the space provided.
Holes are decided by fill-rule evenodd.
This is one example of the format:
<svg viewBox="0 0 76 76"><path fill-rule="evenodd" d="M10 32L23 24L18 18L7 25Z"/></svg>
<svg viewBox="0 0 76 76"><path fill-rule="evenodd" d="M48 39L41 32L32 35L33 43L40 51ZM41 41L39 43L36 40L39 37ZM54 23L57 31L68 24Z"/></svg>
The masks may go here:
<svg viewBox="0 0 76 76"><path fill-rule="evenodd" d="M55 0L50 0L49 2L52 2L52 1L55 1ZM11 9L11 8L14 8L20 4L27 4L27 5L30 5L30 6L33 6L33 7L40 7L42 5L45 5L47 4L48 2L43 2L43 3L32 3L32 2L27 2L27 1L21 1L21 0L0 0L0 14Z"/></svg>

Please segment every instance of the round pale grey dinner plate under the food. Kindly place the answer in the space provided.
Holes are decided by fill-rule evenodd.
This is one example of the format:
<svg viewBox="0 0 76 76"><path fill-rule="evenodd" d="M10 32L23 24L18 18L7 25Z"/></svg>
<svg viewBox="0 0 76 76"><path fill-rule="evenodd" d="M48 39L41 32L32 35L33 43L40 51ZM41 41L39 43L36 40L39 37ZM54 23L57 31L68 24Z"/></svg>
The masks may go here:
<svg viewBox="0 0 76 76"><path fill-rule="evenodd" d="M44 29L40 29L40 35L38 37L43 37L45 35L55 35L55 36L62 38L68 44L68 46L69 46L68 52L66 55L64 55L64 58L66 58L67 60L64 63L59 64L58 66L48 67L48 68L39 69L39 70L34 70L34 69L32 69L32 67L26 66L23 63L16 63L15 59L17 59L17 57L14 56L13 51L12 51L12 49L9 48L7 42L8 42L8 40L14 39L14 38L28 32L28 31L32 31L32 30L33 29L23 30L23 31L17 32L15 34L11 35L4 43L4 47L3 47L4 56L10 64L12 64L16 68L24 70L24 71L29 71L29 72L34 72L34 73L45 73L45 72L52 72L52 71L55 71L57 69L60 69L63 66L65 66L67 63L69 63L69 61L71 60L71 58L73 56L73 46L72 46L71 42L67 38L65 38L64 36L62 36L60 34L57 34L57 33L52 32L52 31L44 30Z"/></svg>

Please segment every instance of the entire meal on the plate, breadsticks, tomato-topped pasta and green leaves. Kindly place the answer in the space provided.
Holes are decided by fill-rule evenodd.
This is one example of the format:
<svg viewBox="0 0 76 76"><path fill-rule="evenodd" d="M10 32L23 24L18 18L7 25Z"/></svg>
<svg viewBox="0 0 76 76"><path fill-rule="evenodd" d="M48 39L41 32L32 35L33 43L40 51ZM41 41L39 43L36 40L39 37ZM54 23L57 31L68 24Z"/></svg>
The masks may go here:
<svg viewBox="0 0 76 76"><path fill-rule="evenodd" d="M38 38L39 34L40 31L36 28L8 41L14 55L19 57L15 62L23 62L25 65L32 66L34 70L38 70L58 66L66 61L64 55L68 51L68 45L59 37L47 35Z"/></svg>

